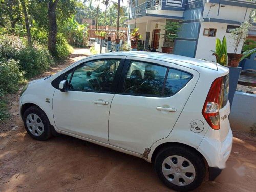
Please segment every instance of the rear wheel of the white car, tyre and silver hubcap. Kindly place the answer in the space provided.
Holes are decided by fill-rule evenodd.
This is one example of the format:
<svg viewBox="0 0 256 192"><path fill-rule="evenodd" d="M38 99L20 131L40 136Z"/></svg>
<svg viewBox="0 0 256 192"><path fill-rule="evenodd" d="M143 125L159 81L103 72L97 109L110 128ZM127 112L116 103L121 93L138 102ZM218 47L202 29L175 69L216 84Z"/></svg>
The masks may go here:
<svg viewBox="0 0 256 192"><path fill-rule="evenodd" d="M205 178L205 163L193 150L170 146L161 150L155 159L155 169L161 181L170 189L190 191Z"/></svg>

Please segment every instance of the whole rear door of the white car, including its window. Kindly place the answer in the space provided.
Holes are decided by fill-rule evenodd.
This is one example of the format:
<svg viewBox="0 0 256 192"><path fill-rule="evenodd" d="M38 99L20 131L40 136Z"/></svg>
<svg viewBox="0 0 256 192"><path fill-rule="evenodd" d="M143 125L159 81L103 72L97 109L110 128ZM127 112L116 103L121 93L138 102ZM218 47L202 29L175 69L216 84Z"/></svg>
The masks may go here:
<svg viewBox="0 0 256 192"><path fill-rule="evenodd" d="M143 154L167 137L198 78L174 63L127 57L110 109L110 144Z"/></svg>

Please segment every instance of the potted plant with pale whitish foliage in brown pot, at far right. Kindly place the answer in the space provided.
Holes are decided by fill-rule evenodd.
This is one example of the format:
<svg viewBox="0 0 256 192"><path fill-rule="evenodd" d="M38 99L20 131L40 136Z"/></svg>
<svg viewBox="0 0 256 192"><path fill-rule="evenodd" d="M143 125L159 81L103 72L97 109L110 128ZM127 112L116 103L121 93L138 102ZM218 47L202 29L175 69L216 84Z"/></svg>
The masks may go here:
<svg viewBox="0 0 256 192"><path fill-rule="evenodd" d="M242 46L248 36L248 28L252 25L249 22L243 22L240 27L230 30L233 39L234 53L228 53L228 66L238 67L243 54L238 54L239 46Z"/></svg>

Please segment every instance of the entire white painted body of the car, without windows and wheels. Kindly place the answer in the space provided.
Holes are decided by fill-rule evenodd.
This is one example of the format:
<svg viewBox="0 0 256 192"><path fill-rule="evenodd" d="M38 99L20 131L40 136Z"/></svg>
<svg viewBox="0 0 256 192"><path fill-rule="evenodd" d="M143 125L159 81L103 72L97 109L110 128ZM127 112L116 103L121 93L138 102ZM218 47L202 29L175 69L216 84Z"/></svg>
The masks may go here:
<svg viewBox="0 0 256 192"><path fill-rule="evenodd" d="M156 63L182 69L192 73L194 77L177 94L160 99L114 93L74 93L73 91L63 93L51 85L59 75L83 62L100 58L125 59L126 57L150 62L155 59ZM224 168L232 147L232 132L228 121L230 105L228 103L220 110L220 118L227 115L221 120L220 130L211 129L202 115L202 108L211 83L217 77L226 74L228 68L220 65L171 54L153 52L100 54L75 62L46 80L31 82L20 97L20 112L24 104L33 103L47 114L51 125L59 133L61 130L63 134L137 157L142 157L145 148L150 148L148 156L142 157L148 162L152 161L153 152L158 146L177 142L198 150L209 166ZM53 99L55 96L56 98ZM49 102L46 102L47 98ZM108 100L109 105L97 106L93 101L98 99ZM177 112L163 114L155 109L156 106L166 103L176 108ZM140 110L137 110L136 106L140 107ZM93 115L94 113L97 115ZM71 119L74 119L75 123L74 121L72 124L69 123ZM89 122L88 119L92 121ZM136 120L133 121L134 119ZM203 122L204 129L200 133L190 130L190 123L193 120ZM141 131L138 126L140 124ZM157 126L159 131L155 130ZM128 137L125 136L126 134Z"/></svg>

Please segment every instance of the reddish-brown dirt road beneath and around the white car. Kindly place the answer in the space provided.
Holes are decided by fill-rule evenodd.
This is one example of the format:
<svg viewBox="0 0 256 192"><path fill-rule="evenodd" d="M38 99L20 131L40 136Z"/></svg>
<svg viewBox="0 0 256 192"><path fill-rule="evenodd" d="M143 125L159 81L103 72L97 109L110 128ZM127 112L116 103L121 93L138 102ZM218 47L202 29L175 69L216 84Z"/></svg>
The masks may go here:
<svg viewBox="0 0 256 192"><path fill-rule="evenodd" d="M19 96L10 97L12 116L0 127L1 192L169 191L153 166L140 158L64 135L45 142L31 139L16 113ZM234 132L233 141L227 168L215 182L206 181L197 191L255 191L256 139Z"/></svg>

